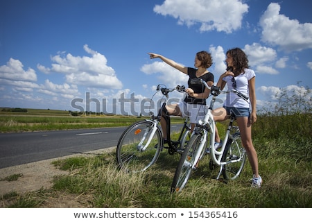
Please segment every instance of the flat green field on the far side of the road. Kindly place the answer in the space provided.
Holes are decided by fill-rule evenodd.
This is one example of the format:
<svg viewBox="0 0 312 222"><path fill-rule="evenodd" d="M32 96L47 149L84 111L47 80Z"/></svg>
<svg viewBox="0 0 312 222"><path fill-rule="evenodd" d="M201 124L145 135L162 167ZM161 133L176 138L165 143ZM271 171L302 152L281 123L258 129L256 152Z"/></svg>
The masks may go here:
<svg viewBox="0 0 312 222"><path fill-rule="evenodd" d="M1 108L0 108L1 109ZM95 114L73 117L62 110L33 110L28 112L0 112L0 133L31 132L40 130L70 130L129 126L147 117L107 116ZM182 118L172 118L172 123L182 123Z"/></svg>

